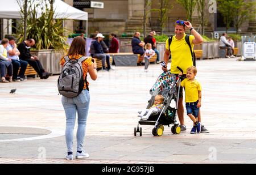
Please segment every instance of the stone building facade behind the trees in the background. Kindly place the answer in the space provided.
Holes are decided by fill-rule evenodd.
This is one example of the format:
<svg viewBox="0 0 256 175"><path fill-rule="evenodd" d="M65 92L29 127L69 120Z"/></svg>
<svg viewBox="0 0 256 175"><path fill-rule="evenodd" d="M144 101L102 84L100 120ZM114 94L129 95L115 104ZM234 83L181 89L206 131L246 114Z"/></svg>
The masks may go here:
<svg viewBox="0 0 256 175"><path fill-rule="evenodd" d="M74 2L83 2L87 0L63 0L69 5L73 6ZM96 0L97 1L97 0ZM100 0L99 0L100 1ZM145 0L102 0L104 8L86 8L80 7L80 10L88 12L88 33L100 31L101 33L117 33L118 36L132 35L135 31L143 31L143 14L144 14ZM245 0L254 1L254 0ZM160 31L159 12L154 9L160 8L160 0L151 0L151 5L146 8L146 30ZM208 5L208 0L205 0ZM174 32L174 25L177 19L186 19L185 9L179 5L176 0L169 0L167 11L167 20L163 27L163 33L170 35ZM218 13L209 13L209 7L206 8L207 24L205 33L209 37L213 32L224 32L225 27L221 16ZM151 11L150 11L151 10ZM1 16L0 16L1 18ZM197 10L193 12L193 27L200 30L199 17ZM9 34L15 33L15 27L12 24L15 19L1 19L0 20L0 36L1 39ZM76 20L65 20L64 27L69 31L76 33L86 33L86 22ZM240 28L241 33L256 33L256 16L253 20L245 20ZM229 32L235 32L234 28L230 28ZM69 33L65 33L68 36ZM124 35L124 36L125 36Z"/></svg>

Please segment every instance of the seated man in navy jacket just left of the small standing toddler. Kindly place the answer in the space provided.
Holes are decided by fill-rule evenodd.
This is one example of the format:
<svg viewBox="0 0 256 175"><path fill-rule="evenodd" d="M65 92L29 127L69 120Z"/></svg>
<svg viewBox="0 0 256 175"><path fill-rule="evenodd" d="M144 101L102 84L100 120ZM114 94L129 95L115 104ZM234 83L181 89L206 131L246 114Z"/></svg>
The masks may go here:
<svg viewBox="0 0 256 175"><path fill-rule="evenodd" d="M145 54L144 45L145 45L145 42L141 41L139 39L139 36L141 36L141 33L139 33L139 32L135 32L134 33L134 37L131 40L131 47L133 48L133 53L134 54L140 54L141 57L144 58L144 54Z"/></svg>

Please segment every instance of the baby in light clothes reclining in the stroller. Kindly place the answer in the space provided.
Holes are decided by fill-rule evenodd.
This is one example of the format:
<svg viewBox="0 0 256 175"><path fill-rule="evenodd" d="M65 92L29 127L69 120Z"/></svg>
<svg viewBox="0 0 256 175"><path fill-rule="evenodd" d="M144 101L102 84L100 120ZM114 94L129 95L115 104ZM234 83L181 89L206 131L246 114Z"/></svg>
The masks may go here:
<svg viewBox="0 0 256 175"><path fill-rule="evenodd" d="M138 117L142 117L142 120L147 120L148 117L150 117L152 112L159 112L159 110L163 106L163 100L164 97L162 95L156 95L155 96L155 103L151 106L150 109L144 109L142 110L141 114L138 115ZM146 116L144 116L146 114Z"/></svg>

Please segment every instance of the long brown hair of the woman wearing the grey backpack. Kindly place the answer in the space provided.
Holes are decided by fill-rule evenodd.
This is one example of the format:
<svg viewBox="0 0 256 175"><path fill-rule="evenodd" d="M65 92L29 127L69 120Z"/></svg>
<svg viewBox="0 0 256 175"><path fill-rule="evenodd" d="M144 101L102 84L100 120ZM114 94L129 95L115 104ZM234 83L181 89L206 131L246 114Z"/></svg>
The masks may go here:
<svg viewBox="0 0 256 175"><path fill-rule="evenodd" d="M81 36L75 37L73 39L71 46L68 50L68 56L80 54L85 56L85 40Z"/></svg>

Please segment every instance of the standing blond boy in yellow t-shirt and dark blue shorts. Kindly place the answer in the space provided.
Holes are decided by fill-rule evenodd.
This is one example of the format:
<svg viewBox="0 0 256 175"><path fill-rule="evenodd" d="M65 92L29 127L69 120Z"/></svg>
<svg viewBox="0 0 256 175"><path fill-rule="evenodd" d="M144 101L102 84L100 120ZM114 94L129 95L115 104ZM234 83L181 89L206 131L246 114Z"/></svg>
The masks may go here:
<svg viewBox="0 0 256 175"><path fill-rule="evenodd" d="M185 88L185 103L188 117L194 122L191 134L201 132L201 123L198 122L199 108L201 107L201 84L195 79L196 67L191 66L187 69L187 78L180 86Z"/></svg>

